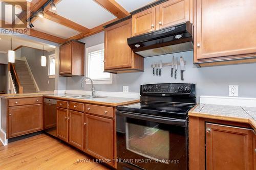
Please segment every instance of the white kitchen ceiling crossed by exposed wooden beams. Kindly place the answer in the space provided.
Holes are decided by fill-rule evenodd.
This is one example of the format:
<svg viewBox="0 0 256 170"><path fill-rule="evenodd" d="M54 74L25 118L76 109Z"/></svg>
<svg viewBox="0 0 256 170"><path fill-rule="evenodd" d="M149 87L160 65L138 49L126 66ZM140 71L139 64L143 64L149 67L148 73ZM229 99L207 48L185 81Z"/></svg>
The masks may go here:
<svg viewBox="0 0 256 170"><path fill-rule="evenodd" d="M29 16L47 2L27 1L33 7L28 12ZM154 1L156 0L54 0L56 11L52 11L48 5L44 9L44 18L33 18L35 27L32 29L36 32L31 36L57 43L81 39L103 31L104 25L128 16L130 12Z"/></svg>

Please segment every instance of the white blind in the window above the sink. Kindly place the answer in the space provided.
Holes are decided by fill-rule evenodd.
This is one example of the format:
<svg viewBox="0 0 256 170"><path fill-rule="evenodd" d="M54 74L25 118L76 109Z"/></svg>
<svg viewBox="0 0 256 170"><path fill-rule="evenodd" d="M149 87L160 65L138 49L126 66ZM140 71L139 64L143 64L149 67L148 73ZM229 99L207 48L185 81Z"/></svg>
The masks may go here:
<svg viewBox="0 0 256 170"><path fill-rule="evenodd" d="M110 80L111 75L104 71L104 44L87 49L87 76L95 81ZM102 82L103 83L103 82Z"/></svg>

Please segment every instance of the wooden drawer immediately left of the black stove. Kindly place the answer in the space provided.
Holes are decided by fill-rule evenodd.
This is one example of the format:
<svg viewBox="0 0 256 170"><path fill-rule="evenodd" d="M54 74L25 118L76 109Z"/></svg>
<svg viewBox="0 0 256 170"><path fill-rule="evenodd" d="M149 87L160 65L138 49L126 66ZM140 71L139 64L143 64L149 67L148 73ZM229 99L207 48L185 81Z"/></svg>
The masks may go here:
<svg viewBox="0 0 256 170"><path fill-rule="evenodd" d="M114 108L113 107L87 105L86 104L86 112L101 115L101 116L113 117Z"/></svg>

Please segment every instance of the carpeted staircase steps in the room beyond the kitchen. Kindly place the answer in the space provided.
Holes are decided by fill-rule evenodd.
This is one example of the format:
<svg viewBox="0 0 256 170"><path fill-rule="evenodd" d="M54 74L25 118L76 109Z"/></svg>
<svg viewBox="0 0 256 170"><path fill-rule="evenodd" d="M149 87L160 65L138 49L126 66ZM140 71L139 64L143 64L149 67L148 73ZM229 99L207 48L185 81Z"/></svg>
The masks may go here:
<svg viewBox="0 0 256 170"><path fill-rule="evenodd" d="M15 60L14 65L20 85L23 86L23 93L35 93L36 87L31 75L29 74L26 62L23 60Z"/></svg>

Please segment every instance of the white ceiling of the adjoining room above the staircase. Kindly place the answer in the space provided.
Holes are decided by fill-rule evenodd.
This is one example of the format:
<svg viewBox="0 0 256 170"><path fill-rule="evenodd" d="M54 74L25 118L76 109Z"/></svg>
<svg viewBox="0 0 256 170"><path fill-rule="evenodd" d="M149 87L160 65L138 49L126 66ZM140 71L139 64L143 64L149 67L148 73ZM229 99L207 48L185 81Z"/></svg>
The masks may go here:
<svg viewBox="0 0 256 170"><path fill-rule="evenodd" d="M19 46L28 46L37 49L43 49L50 52L55 50L55 46L39 43L37 41L32 41L22 38L22 36L9 36L9 35L0 35L0 53L8 53L8 50L11 50L11 38L12 38L12 50Z"/></svg>

